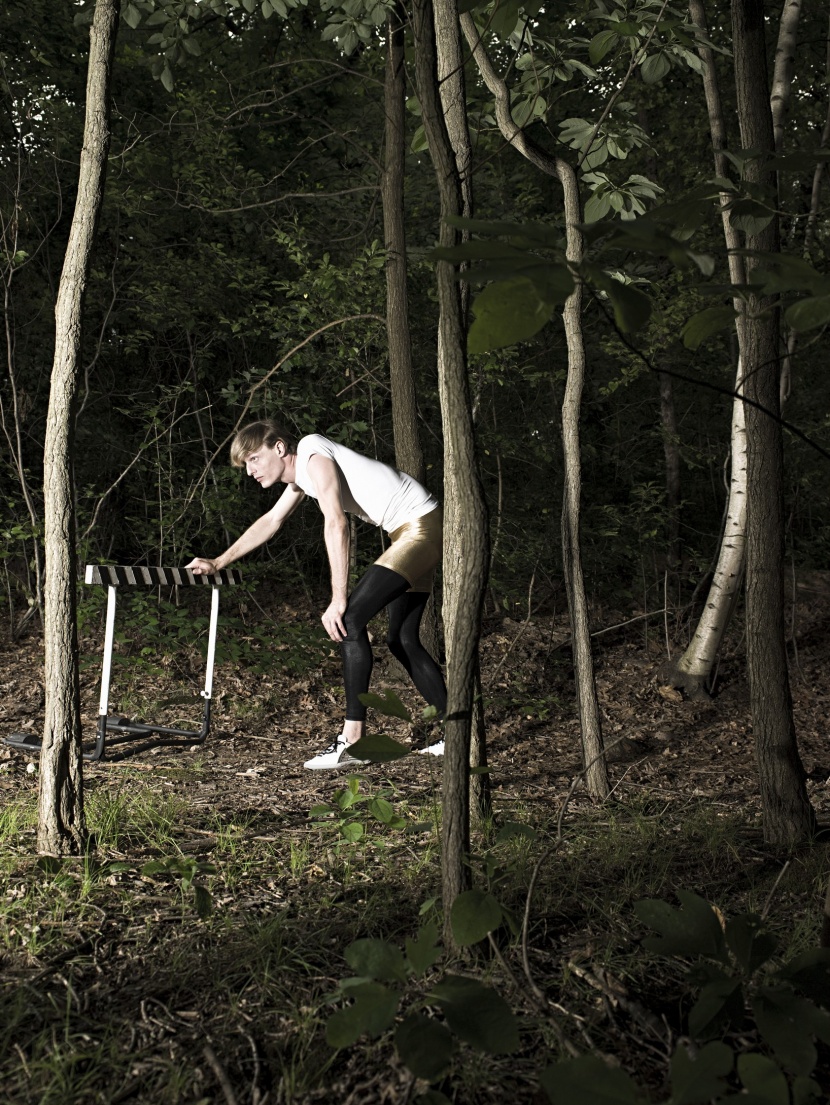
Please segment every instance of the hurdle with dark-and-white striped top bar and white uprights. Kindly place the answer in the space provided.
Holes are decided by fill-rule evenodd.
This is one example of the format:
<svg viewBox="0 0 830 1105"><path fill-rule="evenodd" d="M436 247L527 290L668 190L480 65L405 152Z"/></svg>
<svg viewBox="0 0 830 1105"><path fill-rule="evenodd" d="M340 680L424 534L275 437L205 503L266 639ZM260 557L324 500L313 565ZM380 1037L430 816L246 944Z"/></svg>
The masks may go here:
<svg viewBox="0 0 830 1105"><path fill-rule="evenodd" d="M213 664L217 652L217 628L219 625L219 589L241 582L242 577L232 568L217 571L212 576L195 576L187 568L126 567L124 565L87 564L84 582L107 588L106 628L104 631L104 659L101 672L101 697L98 699L98 724L95 747L84 753L84 759L99 760L106 753L109 733L129 734L144 738L143 747L174 743L180 737L193 744L202 744L210 732L210 703L213 694ZM109 681L113 667L113 642L115 640L115 607L119 587L210 587L210 628L208 630L208 657L204 673L204 699L201 728L178 729L151 722L130 720L126 717L109 716ZM147 739L155 738L155 739Z"/></svg>

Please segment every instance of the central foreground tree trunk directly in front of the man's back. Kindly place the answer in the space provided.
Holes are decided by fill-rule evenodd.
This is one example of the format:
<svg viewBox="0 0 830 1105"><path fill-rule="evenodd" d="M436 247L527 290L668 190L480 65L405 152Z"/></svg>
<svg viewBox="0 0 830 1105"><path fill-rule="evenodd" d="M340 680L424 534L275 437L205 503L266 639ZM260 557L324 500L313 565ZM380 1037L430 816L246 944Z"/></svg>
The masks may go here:
<svg viewBox="0 0 830 1105"><path fill-rule="evenodd" d="M443 33L458 36L454 0L440 0ZM454 21L451 14L454 12ZM439 94L435 23L431 0L414 0L416 72L430 157L441 200L441 245L456 243L446 222L461 214L455 152ZM438 370L444 434L444 636L448 712L443 762L442 876L444 936L452 944L450 907L469 886L470 738L481 613L487 575L487 518L475 459L466 368L466 327L453 266L435 265L439 302Z"/></svg>

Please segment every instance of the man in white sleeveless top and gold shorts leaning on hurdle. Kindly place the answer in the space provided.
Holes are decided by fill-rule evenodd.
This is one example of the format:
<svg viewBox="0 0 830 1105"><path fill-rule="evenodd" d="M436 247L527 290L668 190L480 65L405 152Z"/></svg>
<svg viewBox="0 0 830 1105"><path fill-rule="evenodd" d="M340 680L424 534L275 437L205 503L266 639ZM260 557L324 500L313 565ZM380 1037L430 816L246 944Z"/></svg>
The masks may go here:
<svg viewBox="0 0 830 1105"><path fill-rule="evenodd" d="M366 707L360 695L369 688L374 663L366 627L384 607L389 610L387 643L412 682L434 706L446 711L446 687L441 670L420 641L420 624L441 559L441 509L432 495L411 476L388 464L363 456L321 434L301 438L272 420L252 422L231 443L231 463L244 467L261 487L286 484L274 506L258 518L221 556L197 557L188 568L196 575L227 568L240 557L271 540L306 495L323 512L323 534L332 569L332 601L323 624L340 645L346 687L343 732L317 756L312 770L359 764L349 746L364 735ZM348 594L349 526L346 513L387 530L389 547ZM443 740L423 751L443 755Z"/></svg>

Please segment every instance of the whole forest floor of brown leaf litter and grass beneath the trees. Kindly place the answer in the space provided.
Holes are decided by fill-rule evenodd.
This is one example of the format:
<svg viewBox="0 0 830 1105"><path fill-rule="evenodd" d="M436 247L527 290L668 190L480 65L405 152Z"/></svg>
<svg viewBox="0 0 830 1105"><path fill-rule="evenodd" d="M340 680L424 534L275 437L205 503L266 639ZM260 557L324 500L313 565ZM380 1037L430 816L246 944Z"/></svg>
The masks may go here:
<svg viewBox="0 0 830 1105"><path fill-rule="evenodd" d="M419 925L440 925L441 760L413 755L358 772L358 797L385 798L402 827L372 819L368 802L309 818L346 786L345 772L302 766L338 732L342 711L337 660L308 632L313 617L277 604L256 614L248 651L217 667L203 746L118 748L122 758L85 765L95 846L82 859L38 859L36 761L0 746L4 1101L397 1105L427 1092L397 1057L390 1033L334 1050L325 1025L338 1008L339 979L353 974L343 958L351 940L402 946ZM596 611L593 621L601 629L627 615ZM808 592L791 612L796 724L823 823L828 624L827 596ZM42 641L30 634L12 644L7 630L0 627L0 736L39 733ZM665 1099L668 1056L689 1002L677 964L643 951L638 899L676 905L676 888L686 888L726 916L764 911L787 954L817 943L830 857L820 844L787 857L764 843L739 627L734 633L711 703L690 702L655 680L666 655L662 618L596 638L605 736L620 739L609 756L612 796L592 803L581 783L568 798L580 764L566 619L487 615L482 674L493 824L519 823L527 834L500 843L493 824L480 827L474 881L484 885L488 871L498 899L521 917L543 860L527 970L546 998L534 1001L519 943L506 927L493 955L445 956L424 978L400 983L402 1010L434 1012L429 987L449 967L486 979L519 1017L515 1054L458 1046L438 1084L448 1099L546 1101L538 1074L561 1056L563 1040L571 1054L611 1056L653 1101ZM197 727L195 651L159 644L143 655L139 636L126 638L113 709ZM90 739L99 652L87 624ZM414 708L400 675L379 657L374 690L395 690ZM375 722L410 738L406 722ZM355 843L342 833L349 821L365 827ZM737 1050L761 1048L754 1028L742 1031L733 1036ZM816 1076L830 1084L824 1045Z"/></svg>

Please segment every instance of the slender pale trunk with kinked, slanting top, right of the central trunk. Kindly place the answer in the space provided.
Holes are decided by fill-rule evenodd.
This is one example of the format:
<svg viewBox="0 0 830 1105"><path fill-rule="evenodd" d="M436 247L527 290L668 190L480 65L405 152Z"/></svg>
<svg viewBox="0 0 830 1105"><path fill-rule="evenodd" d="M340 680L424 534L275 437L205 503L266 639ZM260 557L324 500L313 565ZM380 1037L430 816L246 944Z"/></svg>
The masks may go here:
<svg viewBox="0 0 830 1105"><path fill-rule="evenodd" d="M551 158L532 141L515 123L509 107L509 91L496 73L472 15L461 17L461 27L482 80L495 102L495 117L504 138L537 168L556 177L563 187L567 224L567 253L572 264L582 260L582 235L579 188L574 169L561 158ZM563 448L565 453L565 497L563 501L563 560L574 635L577 704L582 738L582 762L588 768L587 783L593 798L607 797L608 767L602 758L602 730L593 680L593 655L588 624L588 600L585 593L580 551L581 457L579 448L579 413L585 382L585 347L581 326L581 290L577 286L563 312L568 348L568 378L563 400Z"/></svg>

